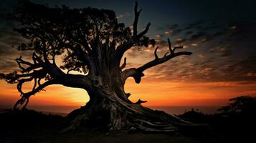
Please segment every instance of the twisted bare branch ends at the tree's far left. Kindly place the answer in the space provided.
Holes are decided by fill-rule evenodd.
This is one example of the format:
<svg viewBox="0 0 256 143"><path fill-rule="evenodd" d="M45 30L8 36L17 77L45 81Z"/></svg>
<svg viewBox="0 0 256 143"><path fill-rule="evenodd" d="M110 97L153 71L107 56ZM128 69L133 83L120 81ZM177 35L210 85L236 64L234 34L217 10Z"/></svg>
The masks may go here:
<svg viewBox="0 0 256 143"><path fill-rule="evenodd" d="M22 74L17 74L17 71L14 71L11 74L0 74L1 79L6 79L6 82L9 84L17 83L17 90L20 93L21 99L19 99L16 104L14 104L14 109L19 104L24 104L24 109L28 102L29 97L33 94L36 94L37 92L40 92L44 87L47 87L49 84L53 84L54 82L52 80L44 82L44 84L41 84L41 79L44 79L47 77L49 66L45 64L42 59L37 56L37 54L32 55L33 62L25 61L22 59L22 56L16 59L16 62L22 71L20 71ZM27 73L27 74L24 74ZM34 79L34 85L32 87L31 92L24 93L22 91L22 85L26 82L31 82Z"/></svg>

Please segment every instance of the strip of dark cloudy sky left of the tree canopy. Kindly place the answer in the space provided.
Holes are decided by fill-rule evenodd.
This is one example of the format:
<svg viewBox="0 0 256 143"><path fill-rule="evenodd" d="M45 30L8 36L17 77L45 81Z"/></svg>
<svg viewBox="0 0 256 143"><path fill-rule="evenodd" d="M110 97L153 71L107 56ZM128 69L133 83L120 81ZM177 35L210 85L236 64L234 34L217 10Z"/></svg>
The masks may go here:
<svg viewBox="0 0 256 143"><path fill-rule="evenodd" d="M17 50L17 46L24 41L22 36L13 30L18 24L12 21L9 16L11 4L14 2L0 2L0 72L10 72L18 69L15 59L20 56L21 51ZM22 55L24 58L30 56L26 52L23 52Z"/></svg>

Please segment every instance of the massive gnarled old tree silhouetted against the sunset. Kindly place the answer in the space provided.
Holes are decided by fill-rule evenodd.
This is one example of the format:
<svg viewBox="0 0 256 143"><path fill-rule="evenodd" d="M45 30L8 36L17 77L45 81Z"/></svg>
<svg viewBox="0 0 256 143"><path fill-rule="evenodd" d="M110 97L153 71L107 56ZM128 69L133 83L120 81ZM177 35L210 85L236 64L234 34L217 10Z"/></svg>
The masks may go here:
<svg viewBox="0 0 256 143"><path fill-rule="evenodd" d="M32 59L26 61L20 56L16 59L20 71L1 74L9 84L17 84L21 99L14 109L27 106L29 97L52 84L82 88L87 91L90 101L85 107L71 112L67 118L69 126L65 130L81 127L115 129L141 129L144 131L171 132L189 122L165 112L143 107L146 102L138 99L131 102L125 93L124 84L132 77L138 84L143 71L176 56L190 55L179 51L169 43L169 52L159 57L156 47L155 58L138 68L125 69L123 54L134 46L154 45L155 41L146 36L150 23L143 31L138 31L141 10L136 2L133 28L118 23L114 11L105 9L70 9L67 6L50 8L47 6L22 2L14 14L19 21L15 29L26 41L19 50L32 51ZM134 51L136 52L136 51ZM62 65L55 59L62 56ZM70 71L82 74L70 74ZM22 90L22 84L33 82L30 92Z"/></svg>

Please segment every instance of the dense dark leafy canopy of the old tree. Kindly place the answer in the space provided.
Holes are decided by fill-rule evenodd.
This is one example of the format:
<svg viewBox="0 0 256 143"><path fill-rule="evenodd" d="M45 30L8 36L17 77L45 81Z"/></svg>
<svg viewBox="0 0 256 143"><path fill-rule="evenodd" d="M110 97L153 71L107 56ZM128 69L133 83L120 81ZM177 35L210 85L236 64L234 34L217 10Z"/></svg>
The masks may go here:
<svg viewBox="0 0 256 143"><path fill-rule="evenodd" d="M25 2L16 11L15 19L22 27L15 30L28 39L27 43L19 45L19 50L34 50L35 54L45 54L53 61L56 55L65 54L62 69L86 74L90 69L90 57L113 58L117 56L115 51L122 49L121 46L131 39L135 40L132 46L155 44L153 39L144 36L150 24L134 37L137 28L132 34L130 27L118 23L115 12L111 10L70 9L67 6L49 8Z"/></svg>

